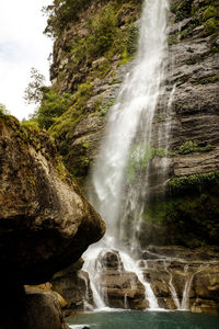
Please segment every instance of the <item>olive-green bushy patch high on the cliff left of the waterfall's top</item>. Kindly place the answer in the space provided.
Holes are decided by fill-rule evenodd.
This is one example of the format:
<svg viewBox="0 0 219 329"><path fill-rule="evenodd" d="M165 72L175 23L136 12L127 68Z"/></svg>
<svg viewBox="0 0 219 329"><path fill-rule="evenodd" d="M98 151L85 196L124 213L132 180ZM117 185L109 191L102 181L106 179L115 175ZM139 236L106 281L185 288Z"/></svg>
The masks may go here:
<svg viewBox="0 0 219 329"><path fill-rule="evenodd" d="M84 37L78 36L68 45L72 69L76 70L77 67L104 55L104 60L95 69L95 75L104 78L111 70L111 60L115 54L122 54L123 64L126 64L135 55L138 29L132 24L127 31L119 29L116 5L110 3L103 7L88 21L85 29L88 32Z"/></svg>

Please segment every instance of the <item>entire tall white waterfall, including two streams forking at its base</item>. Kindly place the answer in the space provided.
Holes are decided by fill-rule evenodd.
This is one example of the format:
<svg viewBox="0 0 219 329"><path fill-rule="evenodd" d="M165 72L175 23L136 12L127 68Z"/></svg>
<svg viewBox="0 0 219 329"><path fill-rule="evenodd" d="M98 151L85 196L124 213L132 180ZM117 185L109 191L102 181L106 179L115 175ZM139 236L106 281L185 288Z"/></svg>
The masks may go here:
<svg viewBox="0 0 219 329"><path fill-rule="evenodd" d="M117 249L125 269L135 272L143 284L149 307L159 307L150 284L136 264L140 250L138 232L148 195L149 162L153 157L153 118L164 91L168 8L168 0L145 1L138 53L122 84L116 104L110 111L106 138L92 171L93 192L89 198L107 228L105 238L84 256L83 270L90 274L91 286L95 286L96 307L105 306L99 284L101 269L96 262L101 249ZM166 111L169 107L166 105ZM169 128L168 124L165 140ZM127 305L127 296L125 298Z"/></svg>

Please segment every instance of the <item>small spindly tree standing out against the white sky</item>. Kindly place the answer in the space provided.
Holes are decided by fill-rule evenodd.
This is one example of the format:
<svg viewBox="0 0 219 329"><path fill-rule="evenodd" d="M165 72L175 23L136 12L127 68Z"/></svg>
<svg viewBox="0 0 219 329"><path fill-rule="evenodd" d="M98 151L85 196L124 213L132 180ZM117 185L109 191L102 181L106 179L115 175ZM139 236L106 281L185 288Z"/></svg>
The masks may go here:
<svg viewBox="0 0 219 329"><path fill-rule="evenodd" d="M45 77L34 67L31 69L31 82L27 88L24 90L24 100L27 104L31 103L39 103L45 92L47 91L47 87L44 84Z"/></svg>

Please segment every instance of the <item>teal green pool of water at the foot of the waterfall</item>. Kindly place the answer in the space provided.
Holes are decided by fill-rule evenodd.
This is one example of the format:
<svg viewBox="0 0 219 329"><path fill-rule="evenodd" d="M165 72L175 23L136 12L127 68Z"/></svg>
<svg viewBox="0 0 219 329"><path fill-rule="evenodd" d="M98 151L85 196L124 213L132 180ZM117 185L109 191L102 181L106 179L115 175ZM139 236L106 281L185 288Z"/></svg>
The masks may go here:
<svg viewBox="0 0 219 329"><path fill-rule="evenodd" d="M100 311L68 319L73 329L219 329L219 317L186 311Z"/></svg>

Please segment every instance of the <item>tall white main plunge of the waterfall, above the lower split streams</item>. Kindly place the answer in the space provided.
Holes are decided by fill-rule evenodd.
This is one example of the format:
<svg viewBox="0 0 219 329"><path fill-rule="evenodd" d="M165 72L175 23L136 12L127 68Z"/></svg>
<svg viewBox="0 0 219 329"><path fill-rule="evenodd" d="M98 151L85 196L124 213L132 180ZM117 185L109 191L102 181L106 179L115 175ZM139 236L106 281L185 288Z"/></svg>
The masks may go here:
<svg viewBox="0 0 219 329"><path fill-rule="evenodd" d="M140 198L147 193L147 178L141 185L129 184L127 191L127 167L134 148L132 160L136 162L142 162L150 148L152 120L164 79L166 10L166 0L148 0L143 5L138 54L122 86L117 103L111 109L107 137L92 173L95 193L90 195L90 201L106 222L107 236L125 240L124 222L131 215L131 245L135 245L135 232L145 205Z"/></svg>

